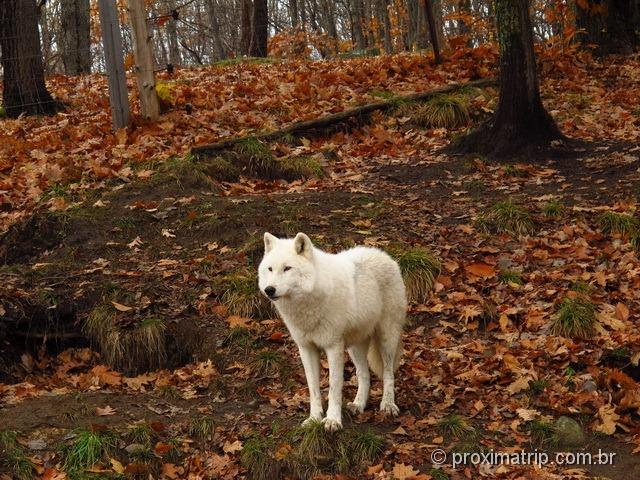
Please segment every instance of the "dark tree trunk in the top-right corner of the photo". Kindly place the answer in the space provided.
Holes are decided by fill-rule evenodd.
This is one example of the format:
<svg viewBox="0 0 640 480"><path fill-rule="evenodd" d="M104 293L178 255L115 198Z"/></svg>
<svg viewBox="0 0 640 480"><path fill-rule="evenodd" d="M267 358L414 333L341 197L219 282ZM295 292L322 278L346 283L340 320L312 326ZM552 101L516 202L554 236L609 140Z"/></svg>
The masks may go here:
<svg viewBox="0 0 640 480"><path fill-rule="evenodd" d="M596 46L596 53L632 53L640 45L638 0L580 0L576 24L584 30L582 42Z"/></svg>

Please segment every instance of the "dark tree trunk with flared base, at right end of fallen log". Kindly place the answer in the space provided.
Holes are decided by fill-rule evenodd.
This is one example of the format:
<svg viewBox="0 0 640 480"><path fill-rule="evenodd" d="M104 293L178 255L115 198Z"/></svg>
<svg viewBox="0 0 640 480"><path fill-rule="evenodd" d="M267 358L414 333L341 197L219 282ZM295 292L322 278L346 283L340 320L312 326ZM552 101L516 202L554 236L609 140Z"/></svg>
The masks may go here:
<svg viewBox="0 0 640 480"><path fill-rule="evenodd" d="M496 0L500 99L493 118L460 139L453 151L517 155L562 139L540 99L528 0Z"/></svg>

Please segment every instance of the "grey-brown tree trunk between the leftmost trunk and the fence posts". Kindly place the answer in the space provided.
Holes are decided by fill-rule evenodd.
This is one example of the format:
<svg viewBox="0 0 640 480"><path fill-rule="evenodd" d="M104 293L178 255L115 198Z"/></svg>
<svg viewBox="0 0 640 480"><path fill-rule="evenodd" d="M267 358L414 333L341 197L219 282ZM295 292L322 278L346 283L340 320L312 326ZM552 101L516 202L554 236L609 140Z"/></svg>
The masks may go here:
<svg viewBox="0 0 640 480"><path fill-rule="evenodd" d="M91 73L89 0L61 0L62 63L67 75Z"/></svg>

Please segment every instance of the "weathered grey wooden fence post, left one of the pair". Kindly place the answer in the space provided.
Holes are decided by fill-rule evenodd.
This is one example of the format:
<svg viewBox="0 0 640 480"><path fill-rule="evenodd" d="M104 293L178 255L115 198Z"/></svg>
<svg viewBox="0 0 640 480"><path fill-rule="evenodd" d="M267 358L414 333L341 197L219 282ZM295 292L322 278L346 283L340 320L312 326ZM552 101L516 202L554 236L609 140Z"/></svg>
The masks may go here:
<svg viewBox="0 0 640 480"><path fill-rule="evenodd" d="M109 103L114 130L129 125L129 98L124 70L124 50L116 0L98 0L104 47L104 63L109 77Z"/></svg>

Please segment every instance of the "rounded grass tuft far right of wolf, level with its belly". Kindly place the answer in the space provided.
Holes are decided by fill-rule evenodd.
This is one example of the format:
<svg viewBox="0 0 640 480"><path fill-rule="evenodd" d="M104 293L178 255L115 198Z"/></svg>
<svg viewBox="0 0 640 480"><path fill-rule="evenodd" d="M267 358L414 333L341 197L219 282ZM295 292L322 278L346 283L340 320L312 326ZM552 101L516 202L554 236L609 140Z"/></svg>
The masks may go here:
<svg viewBox="0 0 640 480"><path fill-rule="evenodd" d="M551 323L551 333L570 338L591 338L596 333L596 308L583 296L566 297Z"/></svg>

